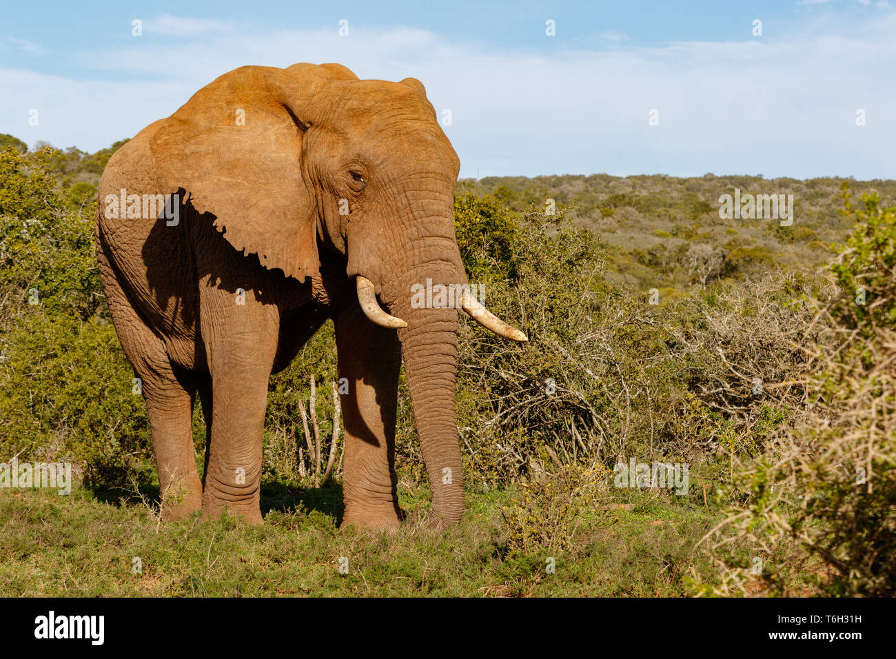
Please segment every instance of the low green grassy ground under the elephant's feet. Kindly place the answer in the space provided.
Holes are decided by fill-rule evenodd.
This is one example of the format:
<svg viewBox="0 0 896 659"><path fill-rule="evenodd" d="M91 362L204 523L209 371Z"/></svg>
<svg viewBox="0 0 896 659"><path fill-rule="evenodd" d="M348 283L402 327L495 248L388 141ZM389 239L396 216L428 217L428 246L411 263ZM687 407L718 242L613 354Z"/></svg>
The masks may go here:
<svg viewBox="0 0 896 659"><path fill-rule="evenodd" d="M151 499L133 494L0 490L0 595L687 596L695 580L716 578L695 549L721 515L711 501L605 493L574 511L582 524L563 551L521 551L502 516L519 490L469 494L463 522L446 532L426 526L425 487L400 494L401 529L362 533L337 529L338 484L269 486L260 527L231 517L159 523Z"/></svg>

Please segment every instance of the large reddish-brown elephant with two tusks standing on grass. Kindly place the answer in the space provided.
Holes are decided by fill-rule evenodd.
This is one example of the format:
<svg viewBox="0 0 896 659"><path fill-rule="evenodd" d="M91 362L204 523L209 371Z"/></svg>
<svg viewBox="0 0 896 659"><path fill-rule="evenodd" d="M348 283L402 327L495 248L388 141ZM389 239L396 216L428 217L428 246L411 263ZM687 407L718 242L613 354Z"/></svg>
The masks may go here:
<svg viewBox="0 0 896 659"><path fill-rule="evenodd" d="M269 380L327 319L348 384L342 526L401 521L402 360L428 518L461 519L459 310L528 339L470 294L454 234L459 169L421 82L360 80L337 64L237 68L113 155L99 183L99 274L141 383L166 519L228 509L263 522ZM415 304L409 291L424 283L457 290L455 303Z"/></svg>

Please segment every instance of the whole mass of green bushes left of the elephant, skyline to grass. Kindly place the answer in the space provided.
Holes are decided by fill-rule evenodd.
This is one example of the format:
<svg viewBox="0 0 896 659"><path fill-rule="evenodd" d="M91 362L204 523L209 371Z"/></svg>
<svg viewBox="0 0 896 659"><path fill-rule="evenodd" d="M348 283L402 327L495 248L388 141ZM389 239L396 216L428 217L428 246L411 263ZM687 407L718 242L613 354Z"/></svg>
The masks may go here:
<svg viewBox="0 0 896 659"><path fill-rule="evenodd" d="M55 158L0 152L0 451L121 483L150 455L145 405L103 303L96 200L56 187Z"/></svg>

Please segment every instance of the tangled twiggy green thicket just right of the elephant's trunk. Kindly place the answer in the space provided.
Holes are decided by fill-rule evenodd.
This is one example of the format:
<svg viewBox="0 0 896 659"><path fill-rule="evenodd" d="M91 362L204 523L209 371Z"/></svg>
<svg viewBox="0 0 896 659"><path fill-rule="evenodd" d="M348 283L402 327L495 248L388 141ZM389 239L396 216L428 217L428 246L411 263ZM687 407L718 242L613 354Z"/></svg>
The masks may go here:
<svg viewBox="0 0 896 659"><path fill-rule="evenodd" d="M745 357L755 375L769 380L797 375L796 351L763 363L766 350L780 350L789 339L776 343L778 327L758 309L747 310L752 299L723 293L706 304L672 291L653 306L649 296L607 281L607 248L565 212L513 220L494 199L460 202L461 252L477 255L470 281L484 282L487 306L530 338L511 344L469 321L461 328L458 411L474 486L496 487L544 471L555 459L612 467L620 455L685 461L732 446L755 452L778 432L756 431L762 400L749 394L750 382L732 386L715 354ZM476 218L490 229L477 230ZM491 231L499 248L489 246ZM511 267L502 260L508 254ZM786 324L790 299L780 297L757 292L772 304L766 313ZM718 392L712 407L697 398L707 391ZM688 400L694 403L683 404ZM766 404L783 404L774 401ZM405 422L402 451L413 450L409 417Z"/></svg>

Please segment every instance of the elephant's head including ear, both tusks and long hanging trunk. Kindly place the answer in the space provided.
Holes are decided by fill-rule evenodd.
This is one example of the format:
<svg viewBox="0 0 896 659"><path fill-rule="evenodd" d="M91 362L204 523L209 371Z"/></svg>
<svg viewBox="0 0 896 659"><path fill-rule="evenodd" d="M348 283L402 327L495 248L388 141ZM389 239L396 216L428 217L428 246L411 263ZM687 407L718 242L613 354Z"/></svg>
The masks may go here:
<svg viewBox="0 0 896 659"><path fill-rule="evenodd" d="M151 148L165 185L264 266L302 281L320 249L344 257L366 316L398 330L435 513L459 519L458 311L412 304L412 287L454 285L480 324L526 338L462 288L459 160L423 85L362 81L341 65L246 66L198 91Z"/></svg>

